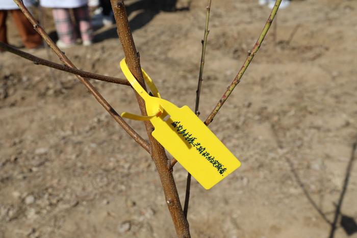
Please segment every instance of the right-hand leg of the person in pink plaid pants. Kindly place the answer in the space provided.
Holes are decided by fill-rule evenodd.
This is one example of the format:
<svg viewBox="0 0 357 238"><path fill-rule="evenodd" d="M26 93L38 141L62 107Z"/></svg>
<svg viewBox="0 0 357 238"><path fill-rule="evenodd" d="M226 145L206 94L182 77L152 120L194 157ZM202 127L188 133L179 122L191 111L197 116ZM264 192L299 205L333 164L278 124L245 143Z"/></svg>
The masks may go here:
<svg viewBox="0 0 357 238"><path fill-rule="evenodd" d="M93 39L93 29L90 23L88 6L73 8L73 14L79 25L83 44L90 45Z"/></svg>

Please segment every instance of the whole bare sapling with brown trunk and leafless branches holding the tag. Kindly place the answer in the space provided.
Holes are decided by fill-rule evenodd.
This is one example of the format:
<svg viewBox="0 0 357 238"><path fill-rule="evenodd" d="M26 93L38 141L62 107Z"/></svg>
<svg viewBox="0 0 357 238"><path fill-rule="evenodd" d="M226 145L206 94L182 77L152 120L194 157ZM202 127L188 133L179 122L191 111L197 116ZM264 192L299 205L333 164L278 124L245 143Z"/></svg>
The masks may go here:
<svg viewBox="0 0 357 238"><path fill-rule="evenodd" d="M55 52L55 54L59 57L59 59L63 62L64 65L38 58L27 52L23 52L12 46L9 46L3 42L0 42L0 48L3 50L7 50L12 54L20 56L22 58L28 59L33 63L35 63L36 65L43 65L46 67L66 71L68 73L72 73L75 76L77 76L78 80L88 89L88 91L95 97L95 99L99 102L99 104L101 104L104 107L104 109L126 131L126 133L129 134L136 143L138 143L142 148L144 148L150 154L153 162L156 165L157 172L161 180L162 189L165 197L165 200L163 200L163 202L167 204L168 210L172 218L173 225L176 230L177 237L191 237L189 223L187 221L191 175L188 174L187 177L186 197L185 197L185 203L184 203L185 205L183 209L179 198L179 193L177 192L176 183L173 178L173 166L177 161L174 158L172 160L169 160L164 147L151 135L152 131L154 131L155 129L154 126L150 123L150 121L144 121L144 126L147 132L148 140L142 138L127 122L123 120L123 118L113 109L113 107L107 102L107 100L95 89L95 87L89 82L89 78L108 82L108 83L125 85L125 86L129 86L130 85L129 82L123 78L105 76L105 75L90 73L77 69L77 67L74 66L72 61L70 61L68 57L64 54L64 51L61 50L49 38L49 36L43 30L43 28L38 23L38 21L35 20L35 18L30 13L30 11L24 6L23 2L21 0L14 0L14 2L18 5L19 9L32 23L34 29L38 32L38 34L41 35L45 43L48 44L48 46ZM196 102L195 102L195 114L197 116L199 116L199 98L200 98L200 92L201 92L202 81L203 81L203 69L205 66L205 54L206 54L206 47L207 47L207 41L209 35L211 2L212 0L208 0L208 4L206 8L205 33L202 39L201 61L200 61L200 69L199 69L198 84L197 84L197 91L196 91ZM240 83L244 72L248 68L254 56L257 54L265 36L267 35L267 32L273 22L274 17L276 16L276 12L281 2L282 0L276 0L275 6L273 7L268 17L268 20L264 25L262 33L260 34L257 42L254 44L252 49L249 51L249 54L246 60L244 61L242 67L238 71L237 76L234 78L232 83L227 87L226 91L223 93L222 97L218 100L212 112L205 120L205 124L207 126L213 121L214 117L219 112L224 102L232 94L235 87ZM116 20L117 33L119 36L121 46L124 51L126 64L129 67L132 74L135 76L136 80L146 90L144 77L140 66L140 55L139 52L136 50L124 1L111 0L111 5ZM136 93L136 91L134 91L134 93L136 95L141 114L143 116L147 115L145 109L145 101L143 100L142 97L138 95L138 93Z"/></svg>

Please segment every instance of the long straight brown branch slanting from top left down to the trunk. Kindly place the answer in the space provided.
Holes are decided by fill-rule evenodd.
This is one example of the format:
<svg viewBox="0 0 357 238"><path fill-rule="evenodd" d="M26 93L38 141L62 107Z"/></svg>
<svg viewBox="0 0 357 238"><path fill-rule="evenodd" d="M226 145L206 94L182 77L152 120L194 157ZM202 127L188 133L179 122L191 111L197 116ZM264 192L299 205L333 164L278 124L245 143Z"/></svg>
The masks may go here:
<svg viewBox="0 0 357 238"><path fill-rule="evenodd" d="M60 48L58 48L58 46L49 38L47 33L41 27L41 25L35 20L30 11L24 6L23 2L21 0L14 0L14 2L17 4L23 14L29 19L36 32L40 34L44 41L49 45L49 47L51 47L55 51L56 55L60 58L60 60L68 67L75 68L73 63L67 58L67 56L65 56L64 52ZM129 134L146 151L150 152L150 145L118 115L118 113L112 108L112 106L106 101L106 99L104 99L104 97L100 95L100 93L94 88L94 86L89 83L86 78L79 75L76 76L86 86L89 92L93 94L95 99L97 99L97 101L109 112L109 114L115 119L115 121L118 122L121 127L123 127L127 134Z"/></svg>

